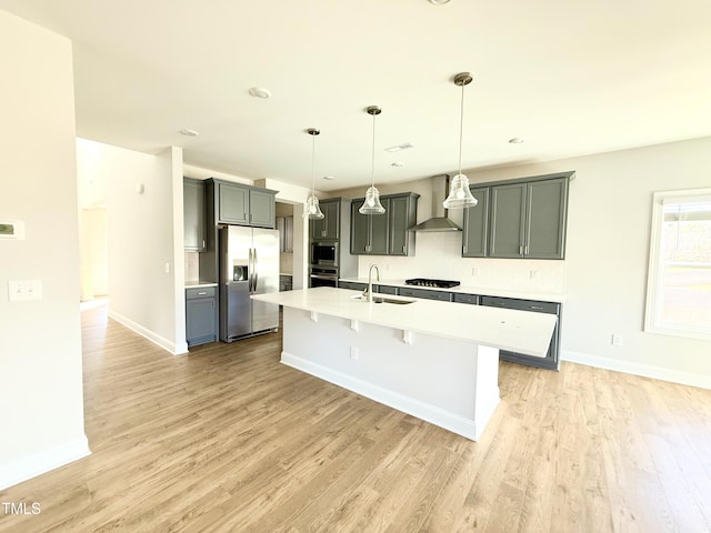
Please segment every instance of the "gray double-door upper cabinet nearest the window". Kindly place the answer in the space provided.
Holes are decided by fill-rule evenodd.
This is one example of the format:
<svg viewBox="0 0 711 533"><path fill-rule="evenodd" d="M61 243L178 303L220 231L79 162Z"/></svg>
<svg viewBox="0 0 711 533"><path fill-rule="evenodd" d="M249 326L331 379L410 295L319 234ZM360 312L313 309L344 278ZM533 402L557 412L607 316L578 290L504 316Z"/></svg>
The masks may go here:
<svg viewBox="0 0 711 533"><path fill-rule="evenodd" d="M491 185L489 257L564 259L572 172L554 175Z"/></svg>

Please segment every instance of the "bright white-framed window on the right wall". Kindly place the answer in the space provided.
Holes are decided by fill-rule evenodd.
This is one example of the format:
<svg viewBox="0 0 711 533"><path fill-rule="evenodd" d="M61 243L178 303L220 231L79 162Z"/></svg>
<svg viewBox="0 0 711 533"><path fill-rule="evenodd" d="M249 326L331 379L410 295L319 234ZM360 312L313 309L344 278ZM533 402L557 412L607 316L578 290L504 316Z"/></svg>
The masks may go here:
<svg viewBox="0 0 711 533"><path fill-rule="evenodd" d="M653 202L644 331L711 340L711 189Z"/></svg>

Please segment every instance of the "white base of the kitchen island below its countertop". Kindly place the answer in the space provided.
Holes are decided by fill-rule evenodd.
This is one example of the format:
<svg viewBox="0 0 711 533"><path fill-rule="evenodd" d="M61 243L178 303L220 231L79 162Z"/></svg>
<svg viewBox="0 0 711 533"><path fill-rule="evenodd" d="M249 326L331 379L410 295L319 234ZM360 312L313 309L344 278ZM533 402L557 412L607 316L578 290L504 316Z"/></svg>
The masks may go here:
<svg viewBox="0 0 711 533"><path fill-rule="evenodd" d="M497 349L283 311L284 364L472 440L499 403Z"/></svg>

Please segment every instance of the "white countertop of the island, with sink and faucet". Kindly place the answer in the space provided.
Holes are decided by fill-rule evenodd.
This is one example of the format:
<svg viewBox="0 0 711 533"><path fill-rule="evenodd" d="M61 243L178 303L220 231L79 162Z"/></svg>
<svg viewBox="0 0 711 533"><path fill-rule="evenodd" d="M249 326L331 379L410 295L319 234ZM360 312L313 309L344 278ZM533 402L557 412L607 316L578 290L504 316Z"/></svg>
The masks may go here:
<svg viewBox="0 0 711 533"><path fill-rule="evenodd" d="M360 294L360 291L321 286L256 294L251 298L287 308L470 341L539 358L544 358L548 353L558 320L553 314L390 295L385 298L413 300L413 303L398 305L363 302L351 298L356 294Z"/></svg>

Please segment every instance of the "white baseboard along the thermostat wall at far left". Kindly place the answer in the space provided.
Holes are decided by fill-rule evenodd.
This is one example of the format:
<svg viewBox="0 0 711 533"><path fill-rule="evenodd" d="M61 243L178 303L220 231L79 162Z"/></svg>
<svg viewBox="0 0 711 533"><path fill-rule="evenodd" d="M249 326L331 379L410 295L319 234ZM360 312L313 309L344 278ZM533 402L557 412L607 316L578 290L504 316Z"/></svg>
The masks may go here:
<svg viewBox="0 0 711 533"><path fill-rule="evenodd" d="M87 435L9 464L0 464L0 491L91 455Z"/></svg>

